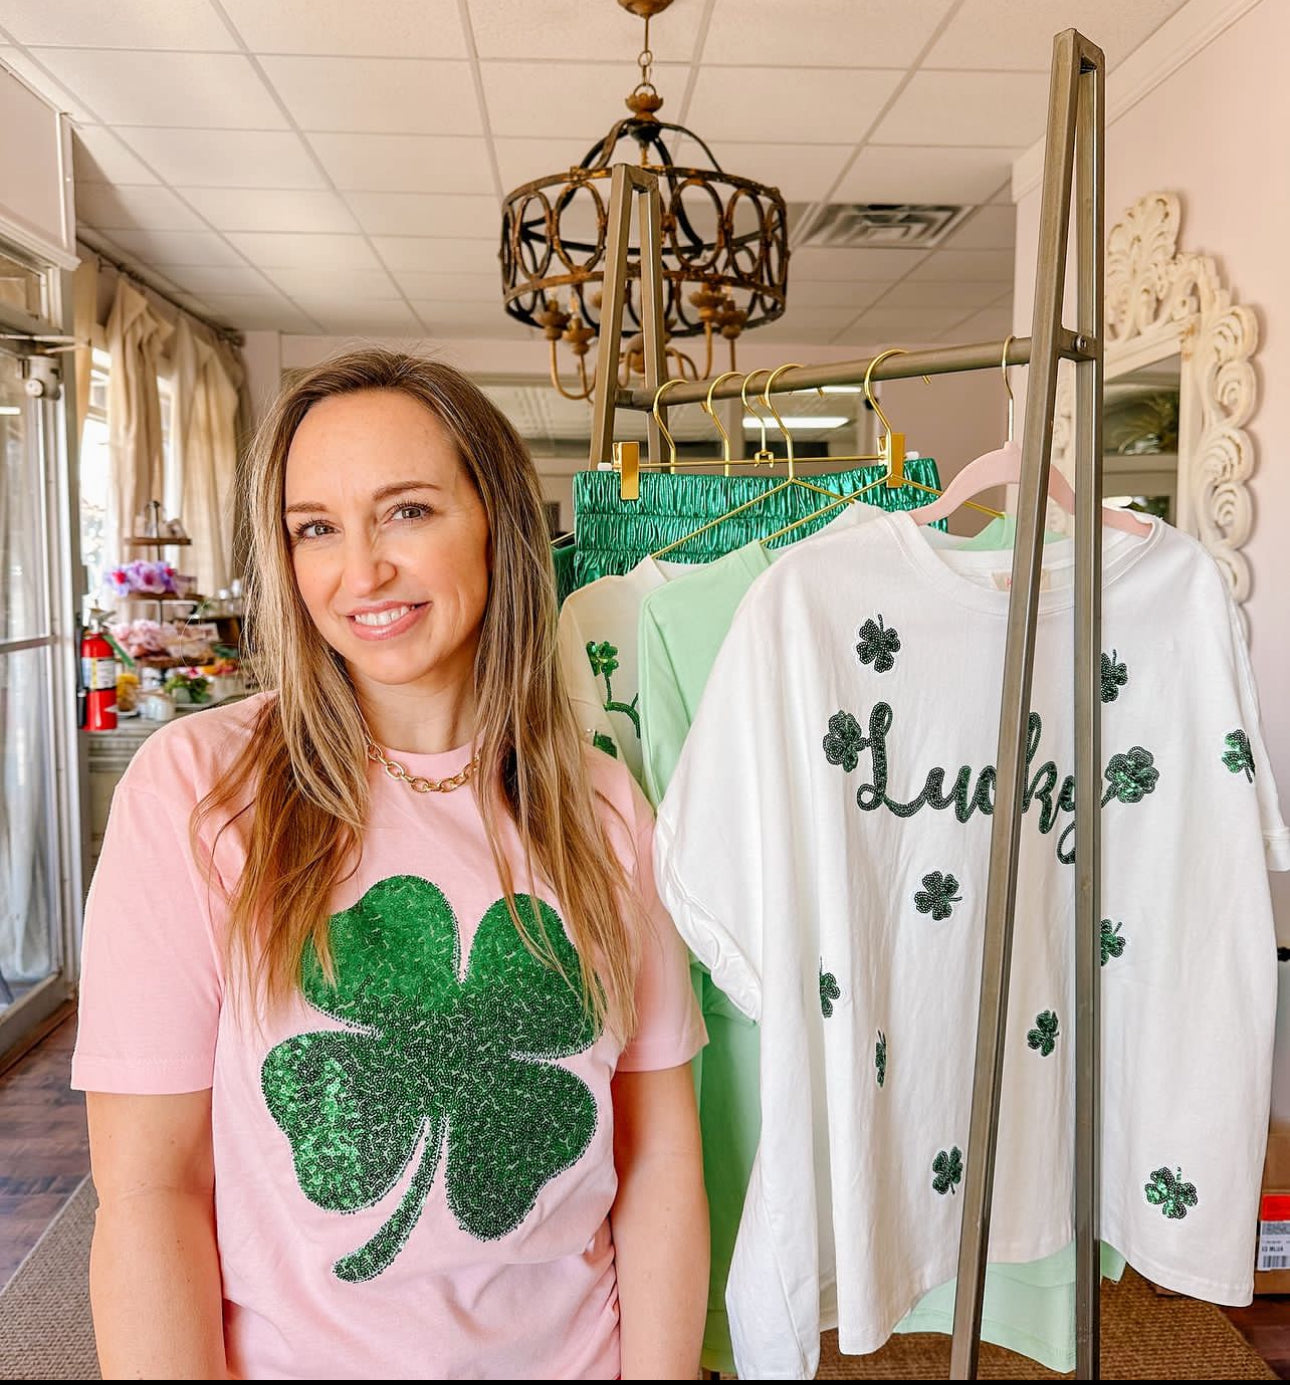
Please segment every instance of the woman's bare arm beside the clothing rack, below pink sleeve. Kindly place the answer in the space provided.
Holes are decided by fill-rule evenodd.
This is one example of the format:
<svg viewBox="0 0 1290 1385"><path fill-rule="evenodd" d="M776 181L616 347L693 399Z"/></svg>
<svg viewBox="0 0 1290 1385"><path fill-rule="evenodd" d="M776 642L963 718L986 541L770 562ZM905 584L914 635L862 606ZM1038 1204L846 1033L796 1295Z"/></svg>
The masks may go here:
<svg viewBox="0 0 1290 1385"><path fill-rule="evenodd" d="M610 1212L624 1379L694 1379L708 1313L708 1197L690 1065L614 1078Z"/></svg>

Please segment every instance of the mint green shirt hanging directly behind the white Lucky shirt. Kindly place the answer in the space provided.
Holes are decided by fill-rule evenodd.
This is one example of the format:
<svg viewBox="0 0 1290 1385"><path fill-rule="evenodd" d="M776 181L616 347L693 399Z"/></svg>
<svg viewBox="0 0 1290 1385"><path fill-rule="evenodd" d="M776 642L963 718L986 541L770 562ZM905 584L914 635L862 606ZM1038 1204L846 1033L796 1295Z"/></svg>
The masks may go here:
<svg viewBox="0 0 1290 1385"><path fill-rule="evenodd" d="M854 504L827 526L836 533L883 511ZM946 546L1005 548L1016 521L993 519L966 543ZM1053 535L1045 535L1050 542ZM809 540L804 540L808 542ZM657 806L676 769L708 674L748 587L768 571L772 555L750 543L648 593L640 607L639 680L644 788ZM748 688L755 697L757 688ZM691 968L708 1046L694 1060L703 1130L704 1180L712 1228L712 1273L704 1332L705 1370L734 1371L726 1323L726 1278L761 1134L758 1089L759 1036L697 963ZM992 1265L985 1276L981 1338L1020 1352L1054 1371L1075 1366L1075 1248L1030 1265ZM1124 1259L1108 1246L1103 1273L1120 1278ZM898 1324L898 1332L953 1330L955 1281L928 1294Z"/></svg>

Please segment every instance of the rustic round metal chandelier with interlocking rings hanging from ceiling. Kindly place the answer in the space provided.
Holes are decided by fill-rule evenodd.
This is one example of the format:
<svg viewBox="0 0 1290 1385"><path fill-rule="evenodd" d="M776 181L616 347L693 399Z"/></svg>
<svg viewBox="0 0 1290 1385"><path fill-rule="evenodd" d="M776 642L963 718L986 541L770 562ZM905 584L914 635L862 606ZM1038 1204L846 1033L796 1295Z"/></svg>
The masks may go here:
<svg viewBox="0 0 1290 1385"><path fill-rule="evenodd" d="M658 119L662 97L651 71L650 19L672 0L618 0L644 19L637 58L640 82L626 98L632 112L563 173L517 187L502 213L502 292L506 312L538 327L550 342L551 384L565 399L590 399L586 356L600 332L600 295L608 222L608 180L618 145L629 140L633 162L658 176L662 198L664 330L671 374L712 374L714 343L729 342L730 368L743 332L784 312L788 277L788 212L779 188L726 173L693 130ZM707 166L678 166L673 151ZM640 334L640 249L628 252L625 327L618 363L622 385L644 373ZM673 342L703 338L703 368ZM560 378L560 343L572 353L576 384Z"/></svg>

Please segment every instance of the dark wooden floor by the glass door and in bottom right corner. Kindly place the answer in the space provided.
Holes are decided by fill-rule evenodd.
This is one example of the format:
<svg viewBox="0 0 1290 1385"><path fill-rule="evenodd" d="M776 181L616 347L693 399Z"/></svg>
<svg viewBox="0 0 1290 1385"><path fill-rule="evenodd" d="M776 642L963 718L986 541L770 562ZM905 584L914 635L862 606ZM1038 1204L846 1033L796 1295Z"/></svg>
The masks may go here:
<svg viewBox="0 0 1290 1385"><path fill-rule="evenodd" d="M68 1087L75 1035L75 1019L65 1021L0 1076L0 1284L90 1172L85 1097ZM1225 1312L1290 1379L1290 1296Z"/></svg>

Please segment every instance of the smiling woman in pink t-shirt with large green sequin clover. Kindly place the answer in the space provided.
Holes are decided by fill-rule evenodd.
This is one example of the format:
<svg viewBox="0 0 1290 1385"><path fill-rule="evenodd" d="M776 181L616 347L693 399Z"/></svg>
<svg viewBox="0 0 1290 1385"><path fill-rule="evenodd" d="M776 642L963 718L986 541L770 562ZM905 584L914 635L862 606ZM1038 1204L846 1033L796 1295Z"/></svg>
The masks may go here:
<svg viewBox="0 0 1290 1385"><path fill-rule="evenodd" d="M143 747L87 904L104 1375L693 1379L703 1025L532 463L373 349L248 483L273 691Z"/></svg>

